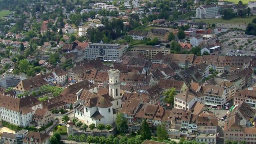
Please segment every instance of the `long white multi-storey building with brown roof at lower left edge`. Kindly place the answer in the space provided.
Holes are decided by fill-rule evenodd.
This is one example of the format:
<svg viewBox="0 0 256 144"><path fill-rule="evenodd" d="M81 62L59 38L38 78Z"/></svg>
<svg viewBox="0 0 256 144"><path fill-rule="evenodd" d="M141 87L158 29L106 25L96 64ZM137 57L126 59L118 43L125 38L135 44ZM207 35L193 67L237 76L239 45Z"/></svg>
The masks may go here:
<svg viewBox="0 0 256 144"><path fill-rule="evenodd" d="M37 108L42 108L42 103L34 96L14 98L0 94L1 119L10 124L28 126Z"/></svg>

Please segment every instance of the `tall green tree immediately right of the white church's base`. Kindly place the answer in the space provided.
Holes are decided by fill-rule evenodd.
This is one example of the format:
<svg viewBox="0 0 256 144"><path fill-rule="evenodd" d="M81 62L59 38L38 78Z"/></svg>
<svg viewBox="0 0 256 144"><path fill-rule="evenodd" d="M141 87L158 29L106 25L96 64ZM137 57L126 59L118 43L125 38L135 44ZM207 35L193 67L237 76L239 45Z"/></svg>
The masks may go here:
<svg viewBox="0 0 256 144"><path fill-rule="evenodd" d="M116 116L116 129L120 134L124 134L128 129L127 119L124 117L124 114L118 113Z"/></svg>

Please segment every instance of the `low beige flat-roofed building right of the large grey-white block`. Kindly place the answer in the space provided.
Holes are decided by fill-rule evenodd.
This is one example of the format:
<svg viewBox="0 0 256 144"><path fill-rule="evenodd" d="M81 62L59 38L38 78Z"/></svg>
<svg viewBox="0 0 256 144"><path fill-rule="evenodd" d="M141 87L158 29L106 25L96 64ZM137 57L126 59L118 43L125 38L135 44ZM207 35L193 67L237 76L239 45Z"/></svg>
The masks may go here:
<svg viewBox="0 0 256 144"><path fill-rule="evenodd" d="M134 47L131 49L132 52L140 52L150 60L156 56L159 52L162 52L164 55L170 54L170 48L159 48L159 47Z"/></svg>

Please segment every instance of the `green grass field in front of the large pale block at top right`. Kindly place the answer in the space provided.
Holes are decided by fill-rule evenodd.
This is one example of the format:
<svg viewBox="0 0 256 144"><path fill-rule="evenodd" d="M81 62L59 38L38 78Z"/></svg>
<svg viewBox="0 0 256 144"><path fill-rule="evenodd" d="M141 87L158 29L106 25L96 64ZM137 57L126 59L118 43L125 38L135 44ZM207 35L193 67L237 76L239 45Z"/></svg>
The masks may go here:
<svg viewBox="0 0 256 144"><path fill-rule="evenodd" d="M222 20L222 18L211 18L206 20L196 20L200 22L210 23L210 24L216 24L216 23L222 23L222 24L242 24L242 23L249 23L252 22L252 20L256 18L256 16L246 16L245 18L232 18L231 20Z"/></svg>

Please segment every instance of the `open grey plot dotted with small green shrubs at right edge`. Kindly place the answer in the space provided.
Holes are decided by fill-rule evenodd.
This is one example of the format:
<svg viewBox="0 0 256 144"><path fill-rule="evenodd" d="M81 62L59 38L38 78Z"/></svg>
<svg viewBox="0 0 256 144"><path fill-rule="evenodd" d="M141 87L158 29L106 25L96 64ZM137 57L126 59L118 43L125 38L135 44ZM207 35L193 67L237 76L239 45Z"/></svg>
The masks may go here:
<svg viewBox="0 0 256 144"><path fill-rule="evenodd" d="M256 36L233 31L220 36L220 40L222 41L222 50L220 51L222 56L254 56L255 54ZM239 52L237 52L238 50Z"/></svg>

